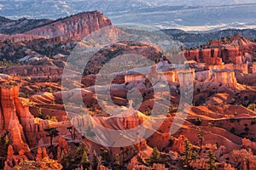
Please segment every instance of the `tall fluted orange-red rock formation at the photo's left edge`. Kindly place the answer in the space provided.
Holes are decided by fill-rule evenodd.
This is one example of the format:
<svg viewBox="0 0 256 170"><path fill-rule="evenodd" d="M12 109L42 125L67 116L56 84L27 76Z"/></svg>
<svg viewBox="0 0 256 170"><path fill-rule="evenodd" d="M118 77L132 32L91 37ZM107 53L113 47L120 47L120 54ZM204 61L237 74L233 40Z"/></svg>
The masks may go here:
<svg viewBox="0 0 256 170"><path fill-rule="evenodd" d="M18 160L25 159L26 156L31 157L30 147L36 146L38 140L42 138L40 131L44 132L44 127L47 126L48 121L35 122L34 116L28 110L28 106L24 106L18 98L19 88L0 88L0 101L1 101L1 132L9 132L9 160L7 164L9 167L15 166L10 162L15 160L17 156ZM19 155L14 155L18 152Z"/></svg>

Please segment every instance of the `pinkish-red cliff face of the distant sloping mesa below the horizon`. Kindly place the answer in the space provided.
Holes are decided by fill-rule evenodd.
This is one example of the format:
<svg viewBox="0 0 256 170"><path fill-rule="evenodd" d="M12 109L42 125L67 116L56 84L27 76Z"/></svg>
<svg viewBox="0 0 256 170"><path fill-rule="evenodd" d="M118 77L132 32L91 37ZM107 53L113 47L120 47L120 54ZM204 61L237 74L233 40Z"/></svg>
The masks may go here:
<svg viewBox="0 0 256 170"><path fill-rule="evenodd" d="M105 26L112 26L111 21L97 11L76 14L64 20L56 21L48 26L42 26L26 34L43 37L64 37L83 38L91 32L99 30Z"/></svg>

